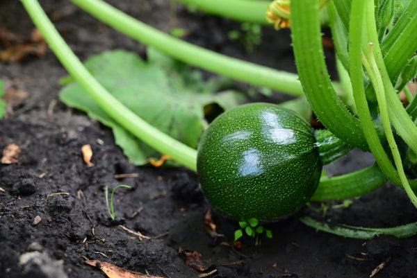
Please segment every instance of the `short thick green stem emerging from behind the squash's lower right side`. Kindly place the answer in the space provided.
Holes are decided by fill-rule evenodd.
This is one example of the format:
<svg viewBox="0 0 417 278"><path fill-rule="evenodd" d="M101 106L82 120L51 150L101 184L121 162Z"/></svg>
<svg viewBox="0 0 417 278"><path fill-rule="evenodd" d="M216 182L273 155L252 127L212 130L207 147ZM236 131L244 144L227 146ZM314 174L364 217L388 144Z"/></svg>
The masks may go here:
<svg viewBox="0 0 417 278"><path fill-rule="evenodd" d="M378 189L387 181L377 164L336 177L324 177L311 197L313 202L343 200L362 196Z"/></svg>

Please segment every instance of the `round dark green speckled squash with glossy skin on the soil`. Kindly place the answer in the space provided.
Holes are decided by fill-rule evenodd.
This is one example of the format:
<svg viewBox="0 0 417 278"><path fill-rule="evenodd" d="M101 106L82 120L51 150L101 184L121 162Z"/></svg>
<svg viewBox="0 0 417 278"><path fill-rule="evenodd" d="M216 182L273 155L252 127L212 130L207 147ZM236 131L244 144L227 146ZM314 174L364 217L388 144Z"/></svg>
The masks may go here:
<svg viewBox="0 0 417 278"><path fill-rule="evenodd" d="M236 220L277 220L318 186L322 163L308 123L277 105L251 103L218 116L197 148L200 187Z"/></svg>

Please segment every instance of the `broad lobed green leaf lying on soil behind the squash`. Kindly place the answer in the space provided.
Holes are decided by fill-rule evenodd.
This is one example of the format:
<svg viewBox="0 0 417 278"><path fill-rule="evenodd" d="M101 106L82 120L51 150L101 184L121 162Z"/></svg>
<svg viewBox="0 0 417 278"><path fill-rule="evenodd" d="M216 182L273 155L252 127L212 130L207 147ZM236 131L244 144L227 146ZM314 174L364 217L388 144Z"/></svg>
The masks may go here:
<svg viewBox="0 0 417 278"><path fill-rule="evenodd" d="M204 81L202 73L149 49L147 61L135 53L108 51L85 62L90 72L108 92L126 107L159 130L195 148L204 131L203 107L217 103L224 110L238 105L242 94L234 91L215 93L225 80ZM76 83L70 82L60 92L65 104L88 113L113 128L116 144L134 164L142 165L158 153L124 130Z"/></svg>

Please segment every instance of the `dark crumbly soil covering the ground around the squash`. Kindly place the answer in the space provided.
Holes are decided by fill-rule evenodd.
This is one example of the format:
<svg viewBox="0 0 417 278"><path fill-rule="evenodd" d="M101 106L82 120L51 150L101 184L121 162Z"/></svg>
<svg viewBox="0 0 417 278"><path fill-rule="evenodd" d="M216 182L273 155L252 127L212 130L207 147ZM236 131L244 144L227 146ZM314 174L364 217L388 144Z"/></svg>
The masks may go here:
<svg viewBox="0 0 417 278"><path fill-rule="evenodd" d="M227 19L190 14L177 6L174 20L165 0L109 2L160 30L169 31L170 24L184 27L189 31L186 40L208 49L295 71L288 31L265 28L263 44L247 55L241 44L228 39L228 31L239 24ZM41 3L56 17L58 30L81 59L108 49L144 56L145 46L69 1ZM33 25L19 1L0 2L0 29L19 40L29 39ZM0 45L0 50L4 47ZM375 277L417 277L416 236L343 238L316 232L295 215L267 225L274 238L263 238L261 246L244 238L237 249L231 246L238 225L214 214L217 232L224 236L211 237L204 224L209 207L195 173L129 163L115 146L111 130L58 101L58 80L66 74L50 51L42 58L0 64L6 87L29 94L0 121L0 149L12 143L22 148L18 164L0 165L0 277L105 277L83 263L88 259L160 277L198 277L201 272L188 266L180 247L211 259L205 272L216 271L208 277L369 277L378 266L381 270ZM281 96L275 95L277 99ZM83 162L85 144L92 146L95 166ZM329 171L346 173L370 163L372 158L357 151L329 166ZM126 173L137 177L114 177ZM116 192L117 218L112 221L104 189L117 184L132 189ZM33 223L38 216L40 223ZM355 199L347 209L331 209L327 216L336 223L367 227L417 220L407 196L391 184ZM140 240L120 225L151 239Z"/></svg>

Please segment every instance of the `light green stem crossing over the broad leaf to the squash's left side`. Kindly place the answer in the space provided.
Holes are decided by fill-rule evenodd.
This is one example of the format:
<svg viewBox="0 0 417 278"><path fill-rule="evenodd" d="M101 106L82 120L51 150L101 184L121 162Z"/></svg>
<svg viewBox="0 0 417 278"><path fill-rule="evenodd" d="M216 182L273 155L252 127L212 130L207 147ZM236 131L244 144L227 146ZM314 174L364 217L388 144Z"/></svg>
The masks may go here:
<svg viewBox="0 0 417 278"><path fill-rule="evenodd" d="M129 130L146 144L159 152L169 155L179 164L196 170L197 151L161 132L146 121L140 119L120 101L117 101L103 86L95 80L80 60L72 53L70 47L60 37L54 25L36 0L22 0L24 7L35 25L44 35L49 47L72 77L97 102L97 104L117 123Z"/></svg>

